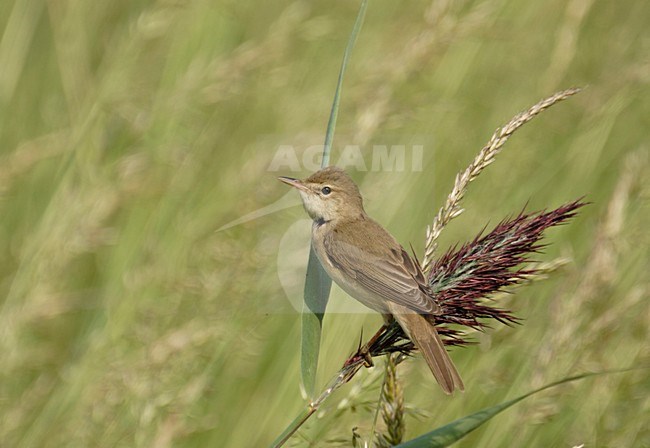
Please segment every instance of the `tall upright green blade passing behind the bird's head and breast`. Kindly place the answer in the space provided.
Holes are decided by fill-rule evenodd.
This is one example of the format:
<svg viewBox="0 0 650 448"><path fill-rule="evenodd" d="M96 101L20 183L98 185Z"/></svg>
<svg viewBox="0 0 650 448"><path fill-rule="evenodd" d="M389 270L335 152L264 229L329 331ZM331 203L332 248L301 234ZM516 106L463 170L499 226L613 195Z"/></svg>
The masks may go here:
<svg viewBox="0 0 650 448"><path fill-rule="evenodd" d="M361 30L363 18L366 14L367 0L361 2L357 19L354 22L352 33L348 39L343 54L343 62L339 70L339 78L332 102L332 110L327 123L327 132L325 133L325 144L323 146L323 160L321 167L329 165L330 153L332 151L332 140L334 138L334 129L336 128L336 118L338 116L339 102L341 99L341 87L343 85L343 75L348 65L352 48L357 40L357 35ZM309 397L314 395L316 387L316 372L318 370L318 354L320 351L320 335L323 325L323 316L327 302L329 300L332 280L327 276L321 266L314 248L309 251L309 264L307 266L307 278L305 280L304 306L302 314L302 343L300 357L300 372L302 386Z"/></svg>

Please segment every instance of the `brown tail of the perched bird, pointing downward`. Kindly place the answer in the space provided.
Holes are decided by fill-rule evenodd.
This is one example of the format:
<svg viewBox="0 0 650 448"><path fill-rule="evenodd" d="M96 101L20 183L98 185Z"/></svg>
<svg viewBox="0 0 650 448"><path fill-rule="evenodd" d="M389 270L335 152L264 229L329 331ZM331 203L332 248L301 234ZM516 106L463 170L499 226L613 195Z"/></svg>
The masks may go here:
<svg viewBox="0 0 650 448"><path fill-rule="evenodd" d="M424 356L442 390L447 394L451 394L455 389L465 390L463 380L435 327L421 314L416 314L401 305L391 303L389 308L404 332Z"/></svg>

